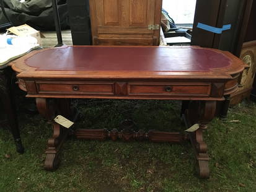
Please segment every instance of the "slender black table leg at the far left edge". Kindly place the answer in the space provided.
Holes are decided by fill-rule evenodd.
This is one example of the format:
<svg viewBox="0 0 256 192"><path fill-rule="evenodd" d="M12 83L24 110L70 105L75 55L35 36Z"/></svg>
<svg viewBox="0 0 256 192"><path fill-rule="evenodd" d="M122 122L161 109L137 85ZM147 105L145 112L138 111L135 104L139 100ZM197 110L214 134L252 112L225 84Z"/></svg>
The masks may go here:
<svg viewBox="0 0 256 192"><path fill-rule="evenodd" d="M7 115L7 121L16 146L16 151L24 153L24 147L20 139L19 125L15 108L15 100L11 91L11 72L9 69L0 71L0 100L2 102L4 113Z"/></svg>

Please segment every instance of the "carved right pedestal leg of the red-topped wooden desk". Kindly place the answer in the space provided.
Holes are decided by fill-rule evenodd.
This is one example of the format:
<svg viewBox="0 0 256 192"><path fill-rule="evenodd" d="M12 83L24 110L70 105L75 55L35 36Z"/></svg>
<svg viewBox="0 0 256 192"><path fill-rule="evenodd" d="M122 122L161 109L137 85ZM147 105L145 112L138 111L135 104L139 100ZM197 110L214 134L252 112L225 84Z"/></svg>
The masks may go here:
<svg viewBox="0 0 256 192"><path fill-rule="evenodd" d="M196 160L198 162L199 175L201 178L209 178L210 171L208 167L209 155L207 154L207 145L203 141L203 129L214 118L216 102L214 101L193 101L190 102L188 110L185 113L185 120L188 125L200 124L200 128L190 133L190 141L195 149Z"/></svg>

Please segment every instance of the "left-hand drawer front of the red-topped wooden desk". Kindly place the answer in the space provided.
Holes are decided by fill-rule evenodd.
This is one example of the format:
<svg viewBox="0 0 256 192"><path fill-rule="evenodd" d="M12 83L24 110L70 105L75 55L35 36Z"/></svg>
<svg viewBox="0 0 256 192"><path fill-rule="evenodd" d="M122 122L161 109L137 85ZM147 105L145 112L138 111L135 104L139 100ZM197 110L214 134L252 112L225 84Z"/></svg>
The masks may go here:
<svg viewBox="0 0 256 192"><path fill-rule="evenodd" d="M39 94L113 95L113 82L36 82Z"/></svg>

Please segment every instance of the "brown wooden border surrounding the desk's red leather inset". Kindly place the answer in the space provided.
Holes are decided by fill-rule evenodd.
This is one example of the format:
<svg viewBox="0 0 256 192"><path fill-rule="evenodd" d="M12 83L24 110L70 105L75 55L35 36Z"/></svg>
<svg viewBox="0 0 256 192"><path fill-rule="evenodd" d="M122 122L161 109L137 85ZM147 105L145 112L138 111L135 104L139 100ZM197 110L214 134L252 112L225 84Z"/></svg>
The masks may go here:
<svg viewBox="0 0 256 192"><path fill-rule="evenodd" d="M60 48L67 48L69 46L62 46ZM131 47L131 46L79 46L76 47ZM154 47L156 46L136 46L136 47ZM51 50L51 49L60 49L60 48L47 48L44 50L32 51L29 54L22 56L15 61L10 63L12 69L19 73L17 77L19 78L74 78L74 79L129 79L133 77L133 79L147 79L147 78L156 78L156 79L181 79L184 76L188 79L232 79L232 74L237 74L242 72L247 66L236 56L232 55L228 51L215 50L212 48L201 48L200 46L159 46L159 48L196 48L196 49L205 49L212 50L217 53L221 53L225 55L227 58L231 59L232 62L229 66L224 68L215 68L210 69L210 71L39 71L37 68L32 68L27 66L24 63L24 60L30 58L31 56L40 53L42 51ZM37 71L37 72L35 72ZM118 78L117 78L118 77Z"/></svg>

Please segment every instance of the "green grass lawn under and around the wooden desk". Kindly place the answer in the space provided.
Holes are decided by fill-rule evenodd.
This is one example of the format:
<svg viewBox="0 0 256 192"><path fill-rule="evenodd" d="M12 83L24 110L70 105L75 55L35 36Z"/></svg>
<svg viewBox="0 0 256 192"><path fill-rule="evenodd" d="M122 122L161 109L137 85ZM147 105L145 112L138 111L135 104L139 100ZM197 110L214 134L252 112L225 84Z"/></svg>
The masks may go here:
<svg viewBox="0 0 256 192"><path fill-rule="evenodd" d="M76 128L118 128L126 118L138 129L184 130L180 103L156 100L76 100L84 118ZM25 153L15 152L0 129L0 191L256 191L256 104L231 108L215 118L205 140L210 179L196 175L192 146L150 142L69 139L55 172L43 170L51 126L40 115L19 112ZM177 127L177 128L176 128Z"/></svg>

